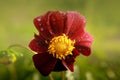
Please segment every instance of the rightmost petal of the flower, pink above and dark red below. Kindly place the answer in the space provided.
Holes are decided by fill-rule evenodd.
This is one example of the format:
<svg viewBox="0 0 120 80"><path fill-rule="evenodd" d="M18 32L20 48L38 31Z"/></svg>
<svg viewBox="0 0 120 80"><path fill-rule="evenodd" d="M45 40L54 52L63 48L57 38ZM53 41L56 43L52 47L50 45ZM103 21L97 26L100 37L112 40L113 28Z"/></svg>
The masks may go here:
<svg viewBox="0 0 120 80"><path fill-rule="evenodd" d="M82 36L77 36L75 41L75 47L80 53L86 56L91 54L91 44L93 42L93 37L90 34L85 32Z"/></svg>

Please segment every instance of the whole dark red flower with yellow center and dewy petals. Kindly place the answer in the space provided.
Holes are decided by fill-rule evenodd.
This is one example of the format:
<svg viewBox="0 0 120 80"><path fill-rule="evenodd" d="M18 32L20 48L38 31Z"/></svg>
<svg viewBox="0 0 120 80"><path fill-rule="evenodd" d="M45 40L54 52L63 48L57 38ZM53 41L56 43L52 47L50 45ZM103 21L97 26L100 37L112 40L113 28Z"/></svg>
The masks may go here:
<svg viewBox="0 0 120 80"><path fill-rule="evenodd" d="M81 14L70 11L49 11L34 19L39 35L29 47L37 52L33 56L35 67L47 76L51 71L74 71L76 56L91 54L93 38L84 27L86 20Z"/></svg>

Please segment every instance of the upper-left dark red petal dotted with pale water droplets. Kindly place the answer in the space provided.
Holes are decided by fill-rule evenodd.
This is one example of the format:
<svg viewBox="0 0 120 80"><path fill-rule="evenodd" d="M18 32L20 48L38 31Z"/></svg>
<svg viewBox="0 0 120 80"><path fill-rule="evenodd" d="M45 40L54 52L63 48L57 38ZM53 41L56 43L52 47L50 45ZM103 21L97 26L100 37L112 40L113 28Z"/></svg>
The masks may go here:
<svg viewBox="0 0 120 80"><path fill-rule="evenodd" d="M53 33L50 27L49 18L52 12L48 12L43 16L38 16L34 19L34 25L40 32L40 34L47 40L50 40L53 37Z"/></svg>

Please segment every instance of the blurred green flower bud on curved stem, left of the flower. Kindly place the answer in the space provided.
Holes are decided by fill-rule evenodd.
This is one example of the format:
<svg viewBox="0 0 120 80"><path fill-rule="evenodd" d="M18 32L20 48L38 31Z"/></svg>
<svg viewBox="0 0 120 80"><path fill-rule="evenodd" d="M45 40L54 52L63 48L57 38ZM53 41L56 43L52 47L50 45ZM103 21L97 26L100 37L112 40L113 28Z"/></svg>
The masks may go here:
<svg viewBox="0 0 120 80"><path fill-rule="evenodd" d="M26 59L31 62L33 53L26 47L21 45L11 45L6 50L0 51L0 63L11 64L18 62L24 62Z"/></svg>

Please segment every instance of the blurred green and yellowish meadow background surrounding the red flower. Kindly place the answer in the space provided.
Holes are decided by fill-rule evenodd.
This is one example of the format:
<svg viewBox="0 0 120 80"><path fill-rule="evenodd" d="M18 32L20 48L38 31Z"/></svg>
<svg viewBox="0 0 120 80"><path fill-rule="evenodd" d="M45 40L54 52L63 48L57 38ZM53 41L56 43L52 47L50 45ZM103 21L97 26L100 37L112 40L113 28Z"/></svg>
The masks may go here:
<svg viewBox="0 0 120 80"><path fill-rule="evenodd" d="M119 80L119 8L119 0L0 0L0 51L12 44L28 47L33 34L37 33L33 25L36 16L49 10L78 11L86 17L86 29L94 36L94 42L91 56L77 58L75 65L79 73L77 77L73 73L74 79ZM25 56L17 57L15 63L0 64L0 80L48 80L34 68L29 53L32 55L24 50ZM60 80L60 73L52 74Z"/></svg>

